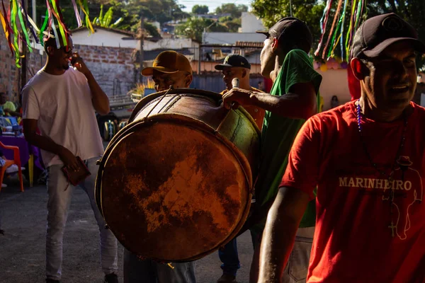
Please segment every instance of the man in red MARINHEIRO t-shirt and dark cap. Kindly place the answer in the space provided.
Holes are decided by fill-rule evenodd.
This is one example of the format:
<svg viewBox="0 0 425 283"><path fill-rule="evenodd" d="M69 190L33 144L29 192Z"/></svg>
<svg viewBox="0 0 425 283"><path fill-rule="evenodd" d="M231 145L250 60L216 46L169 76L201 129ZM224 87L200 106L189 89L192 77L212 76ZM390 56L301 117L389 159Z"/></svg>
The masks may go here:
<svg viewBox="0 0 425 283"><path fill-rule="evenodd" d="M368 19L351 50L361 98L311 117L268 214L259 282L279 282L316 195L307 282L425 282L425 108L412 103L425 45L394 13Z"/></svg>

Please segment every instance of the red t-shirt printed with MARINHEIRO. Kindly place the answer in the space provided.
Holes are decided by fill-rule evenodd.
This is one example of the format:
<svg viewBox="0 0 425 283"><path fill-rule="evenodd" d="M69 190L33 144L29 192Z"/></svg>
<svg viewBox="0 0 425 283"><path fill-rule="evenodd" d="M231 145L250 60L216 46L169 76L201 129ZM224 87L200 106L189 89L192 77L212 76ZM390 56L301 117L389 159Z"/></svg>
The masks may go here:
<svg viewBox="0 0 425 283"><path fill-rule="evenodd" d="M425 282L425 108L412 107L392 204L388 175L363 149L355 102L315 115L298 133L281 186L313 197L317 185L307 282ZM404 121L362 119L368 152L389 174Z"/></svg>

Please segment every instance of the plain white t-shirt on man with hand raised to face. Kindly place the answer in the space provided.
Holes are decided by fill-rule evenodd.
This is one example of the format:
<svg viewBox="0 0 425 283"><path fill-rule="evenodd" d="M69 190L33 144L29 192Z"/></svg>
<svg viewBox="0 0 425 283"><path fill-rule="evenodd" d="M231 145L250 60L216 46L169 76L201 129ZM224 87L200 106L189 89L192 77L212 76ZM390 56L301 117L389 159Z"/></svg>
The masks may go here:
<svg viewBox="0 0 425 283"><path fill-rule="evenodd" d="M23 119L38 120L41 135L81 159L103 154L91 91L86 76L69 67L55 76L40 70L22 91ZM45 166L63 164L59 156L41 151Z"/></svg>

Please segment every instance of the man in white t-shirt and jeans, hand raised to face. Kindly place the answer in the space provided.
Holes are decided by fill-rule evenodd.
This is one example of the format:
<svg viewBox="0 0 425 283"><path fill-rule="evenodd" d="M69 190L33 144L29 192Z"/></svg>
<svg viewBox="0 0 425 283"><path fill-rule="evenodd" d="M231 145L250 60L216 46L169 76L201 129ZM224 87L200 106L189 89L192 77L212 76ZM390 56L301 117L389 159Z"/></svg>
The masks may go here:
<svg viewBox="0 0 425 283"><path fill-rule="evenodd" d="M76 171L79 156L91 172L79 186L89 195L100 230L104 282L116 283L117 241L106 229L94 200L96 160L103 154L95 110L101 115L108 114L109 100L83 59L77 52L72 53L72 40L68 38L67 44L60 40L60 47L55 38L45 41L45 67L22 91L24 134L30 144L41 149L48 171L46 282L59 282L62 275L62 238L74 190L62 167Z"/></svg>

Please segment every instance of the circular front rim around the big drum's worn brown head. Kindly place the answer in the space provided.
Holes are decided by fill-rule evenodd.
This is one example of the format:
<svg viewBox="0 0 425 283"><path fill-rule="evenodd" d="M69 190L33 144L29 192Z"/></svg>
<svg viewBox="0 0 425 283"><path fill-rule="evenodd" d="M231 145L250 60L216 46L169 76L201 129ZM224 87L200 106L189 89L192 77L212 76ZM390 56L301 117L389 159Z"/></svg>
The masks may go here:
<svg viewBox="0 0 425 283"><path fill-rule="evenodd" d="M224 136L222 136L222 134L220 134L220 132L215 132L215 129L213 129L212 127L206 125L204 122L200 121L200 120L196 120L193 117L188 117L188 116L183 116L183 115L179 115L179 119L176 119L176 115L173 113L161 113L158 115L152 115L149 116L146 120L138 120L136 122L132 122L132 125L128 125L130 127L125 126L123 129L121 129L121 131L123 131L122 134L120 134L120 139L118 140L111 140L110 145L108 145L108 147L105 150L105 153L103 154L100 163L99 163L99 168L98 168L98 174L96 175L96 184L95 184L95 199L96 199L96 205L99 209L99 211L101 212L101 215L103 216L103 219L105 219L104 213L103 213L103 206L101 204L103 197L102 197L102 190L101 190L101 180L103 177L103 171L105 168L105 165L108 161L108 158L111 156L111 152L113 151L113 149L115 148L115 146L118 146L119 142L121 140L123 140L126 136L132 134L133 132L136 132L136 130L138 128L143 128L143 127L149 127L149 125L152 125L154 123L157 122L181 122L181 120L185 120L185 122L189 122L191 123L190 126L193 126L193 128L196 128L198 130L200 130L201 132L205 132L206 134L211 134L213 136L215 136L220 142L221 144L223 144L224 146L226 146L229 151L232 152L232 154L234 155L234 158L236 158L237 163L239 163L239 166L242 169L242 172L245 175L245 180L246 180L246 185L248 185L248 192L246 192L246 204L244 205L244 207L242 208L242 214L241 214L241 218L238 221L237 225L235 226L235 229L229 233L229 235L227 236L227 238L225 238L225 240L223 240L221 243L218 243L217 246L214 246L213 248L210 248L210 250L206 250L203 253L200 253L199 255L194 255L191 258L184 258L181 260L167 260L167 259L160 259L160 258L149 258L152 260L157 260L160 262L188 262L188 261L193 261L193 260L198 260L200 258L205 257L206 255L209 255L210 253L214 253L215 250L217 250L218 248L220 248L221 246L225 246L227 243L229 243L229 241L232 240L232 238L234 238L234 236L237 235L237 233L239 232L240 229L242 229L242 226L244 225L246 218L249 214L249 210L251 207L251 198L252 198L252 193L254 190L254 184L253 184L253 180L252 180L252 174L251 174L251 166L249 165L249 161L247 160L247 158L244 156L244 154L242 153L242 151L239 150L239 148L232 143L232 141L229 141L227 138L225 138ZM124 130L125 129L125 130ZM120 131L120 132L121 132ZM118 135L118 134L117 134ZM116 135L115 135L116 136ZM108 225L108 221L107 219L105 219L106 224ZM109 229L111 229L111 231L113 231L113 227L109 226ZM114 233L115 235L115 233ZM123 246L125 246L123 243L121 243ZM137 254L136 252L132 251L129 247L125 246L125 248L127 248L128 250L130 250L132 253Z"/></svg>

